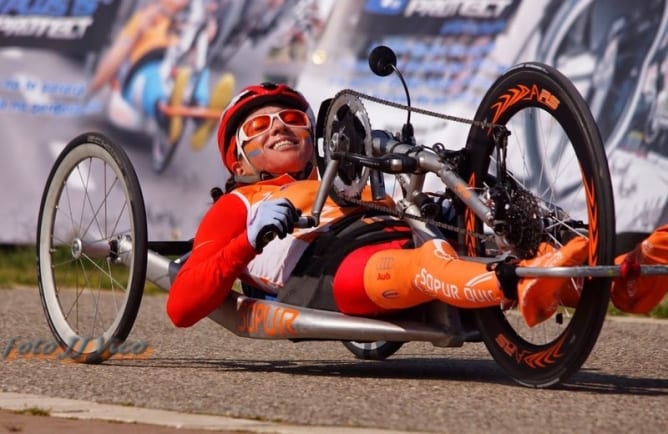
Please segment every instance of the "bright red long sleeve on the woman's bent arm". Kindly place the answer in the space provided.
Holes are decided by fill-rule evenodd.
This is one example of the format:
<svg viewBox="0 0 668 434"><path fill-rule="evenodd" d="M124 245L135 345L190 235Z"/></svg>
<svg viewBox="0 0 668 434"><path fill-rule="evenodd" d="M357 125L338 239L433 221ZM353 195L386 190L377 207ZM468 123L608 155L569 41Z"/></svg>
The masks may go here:
<svg viewBox="0 0 668 434"><path fill-rule="evenodd" d="M167 314L189 327L225 300L256 253L246 235L247 208L233 194L220 197L197 229L193 250L169 290Z"/></svg>

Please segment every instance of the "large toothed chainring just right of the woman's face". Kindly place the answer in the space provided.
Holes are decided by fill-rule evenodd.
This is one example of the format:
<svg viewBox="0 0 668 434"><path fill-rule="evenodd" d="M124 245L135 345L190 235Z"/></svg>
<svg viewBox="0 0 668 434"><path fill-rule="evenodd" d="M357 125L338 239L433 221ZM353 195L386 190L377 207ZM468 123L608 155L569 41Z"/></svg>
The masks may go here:
<svg viewBox="0 0 668 434"><path fill-rule="evenodd" d="M347 107L347 110L345 109ZM352 117L348 117L352 115ZM357 121L357 122L355 122ZM351 125L351 122L353 123ZM361 126L362 131L354 131L355 126ZM353 127L353 128L350 128ZM346 131L352 129L353 131ZM344 134L347 133L348 135ZM362 133L360 138L359 133ZM350 136L354 137L350 137ZM345 145L343 137L349 140ZM333 140L336 138L336 140ZM364 155L372 155L372 141L371 141L371 123L369 115L362 104L362 100L356 95L351 95L345 91L339 92L327 111L325 119L325 163L329 164L331 161L332 152L349 152L351 144L358 145L357 142L361 140L362 149L353 149L352 152L363 153ZM339 142L341 140L342 142ZM355 143L353 143L355 142ZM339 149L336 149L336 148ZM341 149L341 148L344 149ZM358 146L359 147L359 146ZM362 151L362 152L359 152ZM343 163L343 167L339 168L339 173L334 179L333 188L337 194L345 199L355 199L362 195L362 190L366 186L369 179L369 169L367 167L356 167L352 163ZM352 172L352 173L346 173Z"/></svg>

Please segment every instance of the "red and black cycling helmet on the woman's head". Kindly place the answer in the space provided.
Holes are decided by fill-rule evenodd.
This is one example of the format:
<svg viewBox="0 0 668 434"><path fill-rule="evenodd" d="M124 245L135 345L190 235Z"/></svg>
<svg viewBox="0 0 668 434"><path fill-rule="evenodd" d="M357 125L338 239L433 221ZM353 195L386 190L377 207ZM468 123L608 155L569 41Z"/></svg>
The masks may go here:
<svg viewBox="0 0 668 434"><path fill-rule="evenodd" d="M218 149L223 164L232 173L232 166L238 160L236 133L241 122L254 110L265 105L296 108L306 112L311 119L311 134L315 119L311 106L304 96L286 84L262 83L244 88L225 107L218 124Z"/></svg>

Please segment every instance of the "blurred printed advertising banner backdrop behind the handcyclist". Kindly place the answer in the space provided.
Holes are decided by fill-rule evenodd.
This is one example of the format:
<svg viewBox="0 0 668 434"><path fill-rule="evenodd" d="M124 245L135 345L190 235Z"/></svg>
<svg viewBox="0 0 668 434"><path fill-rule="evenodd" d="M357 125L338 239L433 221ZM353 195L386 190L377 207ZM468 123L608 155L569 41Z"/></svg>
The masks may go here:
<svg viewBox="0 0 668 434"><path fill-rule="evenodd" d="M375 76L367 55L392 47L414 106L470 118L510 66L538 60L569 76L605 141L617 230L668 223L668 0L216 0L208 41L210 88L263 80L296 85L317 107L343 88L405 103L394 75ZM191 143L188 124L169 166L154 169L152 130L110 115L106 86L91 78L135 13L155 1L0 2L0 243L34 242L49 171L69 140L100 131L123 145L146 202L149 239L188 239L222 186L215 139ZM193 16L183 11L179 21ZM190 15L189 15L190 14ZM178 26L177 26L178 27ZM180 34L181 40L186 32ZM167 56L165 56L167 57ZM165 60L166 61L166 60ZM128 67L119 69L122 77ZM366 104L373 128L398 130L406 114ZM468 127L414 116L423 144L457 149ZM541 164L541 162L537 162Z"/></svg>

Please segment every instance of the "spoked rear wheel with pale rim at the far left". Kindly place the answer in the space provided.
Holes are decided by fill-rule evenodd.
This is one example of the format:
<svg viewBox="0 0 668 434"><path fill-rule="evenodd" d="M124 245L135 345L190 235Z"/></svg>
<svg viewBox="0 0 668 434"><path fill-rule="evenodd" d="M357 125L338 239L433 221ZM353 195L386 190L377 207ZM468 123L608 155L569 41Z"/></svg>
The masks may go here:
<svg viewBox="0 0 668 434"><path fill-rule="evenodd" d="M144 289L147 229L137 175L106 137L74 138L56 159L37 224L44 313L72 359L111 357L134 324Z"/></svg>

